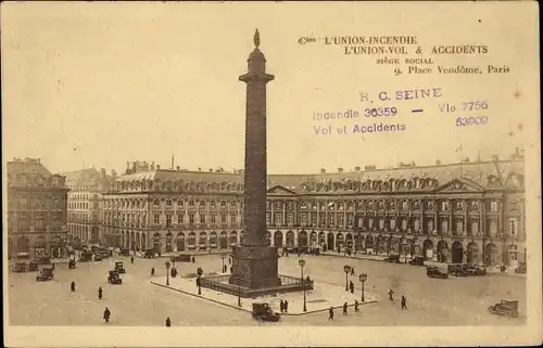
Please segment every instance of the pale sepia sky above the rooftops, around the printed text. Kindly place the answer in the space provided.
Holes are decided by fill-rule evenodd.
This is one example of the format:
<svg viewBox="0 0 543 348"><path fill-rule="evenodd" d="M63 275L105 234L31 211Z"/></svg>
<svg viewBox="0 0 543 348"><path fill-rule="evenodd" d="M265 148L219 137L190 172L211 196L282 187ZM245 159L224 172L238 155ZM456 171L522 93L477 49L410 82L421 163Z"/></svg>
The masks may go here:
<svg viewBox="0 0 543 348"><path fill-rule="evenodd" d="M276 76L267 86L269 173L504 158L517 146L539 143L532 137L539 131L535 31L512 21L507 5L492 11L479 3L472 11L388 3L45 7L2 4L2 151L8 159L40 157L53 172L84 166L118 171L134 160L166 168L172 155L187 169L242 168L245 86L238 77L247 70L255 28L267 73ZM414 36L425 52L432 46L483 44L484 55L433 56L433 68L464 64L485 70L493 64L510 72L395 76L394 65L378 65L375 55L299 43L305 36L363 35ZM374 107L396 107L394 121L404 124L404 131L315 133L318 126L336 131L380 123L362 116L313 119L314 113L363 113L361 92L430 88L442 96L375 100ZM472 114L439 108L469 101L489 105L473 114L488 117L485 125L457 127L456 117Z"/></svg>

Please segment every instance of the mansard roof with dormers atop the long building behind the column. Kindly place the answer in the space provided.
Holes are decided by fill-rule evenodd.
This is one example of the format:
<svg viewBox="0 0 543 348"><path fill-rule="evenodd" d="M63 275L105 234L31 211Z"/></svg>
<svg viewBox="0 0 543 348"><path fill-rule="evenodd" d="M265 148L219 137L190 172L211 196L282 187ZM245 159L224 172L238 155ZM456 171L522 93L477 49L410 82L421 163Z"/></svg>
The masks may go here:
<svg viewBox="0 0 543 348"><path fill-rule="evenodd" d="M488 190L503 189L512 176L516 176L520 182L523 180L523 160L472 162L317 175L269 175L266 185L272 189L281 186L293 193L435 191L459 179L465 188ZM116 179L113 189L131 191L165 188L169 191L239 192L243 190L243 173L157 169L122 176Z"/></svg>

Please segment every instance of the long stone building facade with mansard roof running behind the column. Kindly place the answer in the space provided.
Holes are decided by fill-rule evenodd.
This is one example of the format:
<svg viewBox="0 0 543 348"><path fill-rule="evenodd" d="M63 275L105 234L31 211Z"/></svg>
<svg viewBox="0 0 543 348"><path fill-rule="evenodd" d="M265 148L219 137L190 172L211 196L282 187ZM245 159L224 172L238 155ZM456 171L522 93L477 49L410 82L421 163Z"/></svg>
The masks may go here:
<svg viewBox="0 0 543 348"><path fill-rule="evenodd" d="M162 253L241 241L243 176L149 168L104 193L112 244ZM267 241L442 262L526 261L523 157L268 176Z"/></svg>

